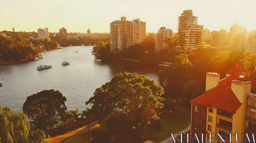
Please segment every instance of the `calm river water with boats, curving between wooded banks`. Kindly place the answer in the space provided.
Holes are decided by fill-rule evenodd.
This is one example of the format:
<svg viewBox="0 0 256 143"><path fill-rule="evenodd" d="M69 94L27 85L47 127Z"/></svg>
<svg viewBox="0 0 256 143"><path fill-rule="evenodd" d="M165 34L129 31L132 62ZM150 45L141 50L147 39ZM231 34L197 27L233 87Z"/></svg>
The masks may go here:
<svg viewBox="0 0 256 143"><path fill-rule="evenodd" d="M86 48L87 47L87 48ZM161 67L142 63L110 60L97 62L91 55L93 46L72 46L44 54L44 59L0 66L0 106L21 112L27 96L45 89L60 90L66 96L68 110L79 107L81 113L96 88L109 82L116 73L136 72L158 80ZM79 51L76 53L75 51ZM61 65L63 61L70 65ZM37 65L53 65L36 70ZM3 78L3 79L2 79Z"/></svg>

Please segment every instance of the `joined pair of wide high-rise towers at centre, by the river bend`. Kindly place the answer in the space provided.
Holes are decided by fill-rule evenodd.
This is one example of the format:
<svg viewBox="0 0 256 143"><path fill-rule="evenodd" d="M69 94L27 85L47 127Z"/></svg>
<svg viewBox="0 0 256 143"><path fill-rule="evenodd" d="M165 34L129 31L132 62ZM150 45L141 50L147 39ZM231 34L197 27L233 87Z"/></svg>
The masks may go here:
<svg viewBox="0 0 256 143"><path fill-rule="evenodd" d="M134 44L139 44L146 36L146 22L135 19L110 22L109 46L110 52L120 52Z"/></svg>

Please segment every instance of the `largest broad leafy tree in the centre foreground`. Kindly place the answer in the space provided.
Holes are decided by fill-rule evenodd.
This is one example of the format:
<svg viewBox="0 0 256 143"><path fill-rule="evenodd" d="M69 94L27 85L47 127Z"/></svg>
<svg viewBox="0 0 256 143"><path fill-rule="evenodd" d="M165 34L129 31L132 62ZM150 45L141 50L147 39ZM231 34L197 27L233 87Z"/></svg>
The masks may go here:
<svg viewBox="0 0 256 143"><path fill-rule="evenodd" d="M110 138L116 142L138 142L139 131L154 124L156 112L163 107L163 88L154 80L136 73L116 74L97 88L86 102L91 112L109 129Z"/></svg>

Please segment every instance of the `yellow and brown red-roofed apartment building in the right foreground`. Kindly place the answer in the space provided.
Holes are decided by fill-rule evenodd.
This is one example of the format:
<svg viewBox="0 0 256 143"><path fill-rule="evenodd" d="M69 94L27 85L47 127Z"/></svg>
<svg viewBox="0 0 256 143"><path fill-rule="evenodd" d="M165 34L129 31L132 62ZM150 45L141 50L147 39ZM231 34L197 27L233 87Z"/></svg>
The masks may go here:
<svg viewBox="0 0 256 143"><path fill-rule="evenodd" d="M237 140L242 141L242 133L248 133L249 138L252 133L255 134L256 80L242 72L246 71L236 65L227 71L226 78L222 80L220 74L206 73L206 91L190 101L191 139L195 133L200 142L209 142L210 133L219 133L223 139L224 133L238 133ZM203 140L201 133L204 133ZM212 142L219 138L211 137L215 138L211 139ZM225 142L229 142L229 135L225 137ZM237 142L235 135L231 138L231 142ZM220 138L219 141L223 142Z"/></svg>

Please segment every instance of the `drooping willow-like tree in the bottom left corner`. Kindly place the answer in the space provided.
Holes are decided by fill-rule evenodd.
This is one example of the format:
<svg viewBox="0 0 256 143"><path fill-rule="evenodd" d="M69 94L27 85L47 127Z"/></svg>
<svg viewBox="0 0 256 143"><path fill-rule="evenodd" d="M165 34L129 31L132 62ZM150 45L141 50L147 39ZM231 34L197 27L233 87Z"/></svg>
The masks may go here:
<svg viewBox="0 0 256 143"><path fill-rule="evenodd" d="M0 107L0 142L42 143L46 135L28 122L23 113L15 113L8 107Z"/></svg>

